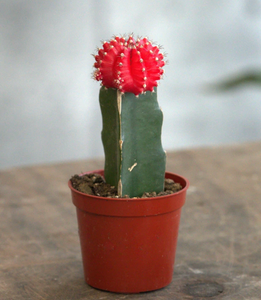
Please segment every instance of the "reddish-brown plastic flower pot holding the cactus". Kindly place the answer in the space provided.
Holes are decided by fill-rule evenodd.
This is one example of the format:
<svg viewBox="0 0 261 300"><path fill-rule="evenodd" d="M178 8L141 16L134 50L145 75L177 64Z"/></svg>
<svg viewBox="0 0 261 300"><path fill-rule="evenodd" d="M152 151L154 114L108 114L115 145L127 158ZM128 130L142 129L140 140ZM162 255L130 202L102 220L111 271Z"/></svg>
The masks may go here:
<svg viewBox="0 0 261 300"><path fill-rule="evenodd" d="M90 173L103 175L103 170ZM188 181L166 172L183 189L143 199L83 194L69 181L76 206L85 281L118 293L139 293L167 286L174 269L181 208Z"/></svg>

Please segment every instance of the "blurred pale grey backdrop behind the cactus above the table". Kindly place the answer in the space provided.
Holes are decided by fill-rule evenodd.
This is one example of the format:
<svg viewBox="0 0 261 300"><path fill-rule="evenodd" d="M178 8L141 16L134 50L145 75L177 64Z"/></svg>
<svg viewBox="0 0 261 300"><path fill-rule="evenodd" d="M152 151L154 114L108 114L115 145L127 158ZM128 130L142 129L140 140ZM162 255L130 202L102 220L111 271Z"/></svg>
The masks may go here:
<svg viewBox="0 0 261 300"><path fill-rule="evenodd" d="M0 169L102 157L96 47L147 36L167 151L261 139L261 0L0 0Z"/></svg>

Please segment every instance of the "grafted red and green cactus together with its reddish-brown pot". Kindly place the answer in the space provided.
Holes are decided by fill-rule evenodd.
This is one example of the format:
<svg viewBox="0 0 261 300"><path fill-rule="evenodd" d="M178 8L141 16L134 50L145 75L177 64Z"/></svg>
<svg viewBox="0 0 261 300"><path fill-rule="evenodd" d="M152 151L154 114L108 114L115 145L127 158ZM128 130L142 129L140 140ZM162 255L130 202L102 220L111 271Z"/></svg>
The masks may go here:
<svg viewBox="0 0 261 300"><path fill-rule="evenodd" d="M87 194L72 179L69 187L85 280L98 289L138 293L162 288L172 280L188 181L165 172L163 115L157 101L164 65L159 47L147 38L114 37L95 55L105 166L89 173L103 176L117 195L93 194L98 183ZM170 182L180 190L164 192Z"/></svg>

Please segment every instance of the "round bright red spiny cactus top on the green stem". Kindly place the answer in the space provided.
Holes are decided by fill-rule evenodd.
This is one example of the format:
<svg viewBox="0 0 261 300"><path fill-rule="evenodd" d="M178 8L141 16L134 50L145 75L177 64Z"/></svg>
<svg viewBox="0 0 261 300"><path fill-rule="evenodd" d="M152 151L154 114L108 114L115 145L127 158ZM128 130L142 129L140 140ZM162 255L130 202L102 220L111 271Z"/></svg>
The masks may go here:
<svg viewBox="0 0 261 300"><path fill-rule="evenodd" d="M158 46L147 39L115 37L104 42L95 55L94 79L107 88L117 88L122 93L135 95L153 91L161 78L164 56Z"/></svg>

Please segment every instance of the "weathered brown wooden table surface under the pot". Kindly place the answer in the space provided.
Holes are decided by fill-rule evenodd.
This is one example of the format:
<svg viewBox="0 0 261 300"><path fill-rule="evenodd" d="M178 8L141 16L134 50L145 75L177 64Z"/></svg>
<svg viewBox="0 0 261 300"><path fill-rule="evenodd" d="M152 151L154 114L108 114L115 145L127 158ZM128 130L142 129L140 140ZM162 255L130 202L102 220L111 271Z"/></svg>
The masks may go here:
<svg viewBox="0 0 261 300"><path fill-rule="evenodd" d="M0 172L0 299L261 299L261 143L172 152L190 180L172 283L113 294L85 284L71 175L100 160Z"/></svg>

